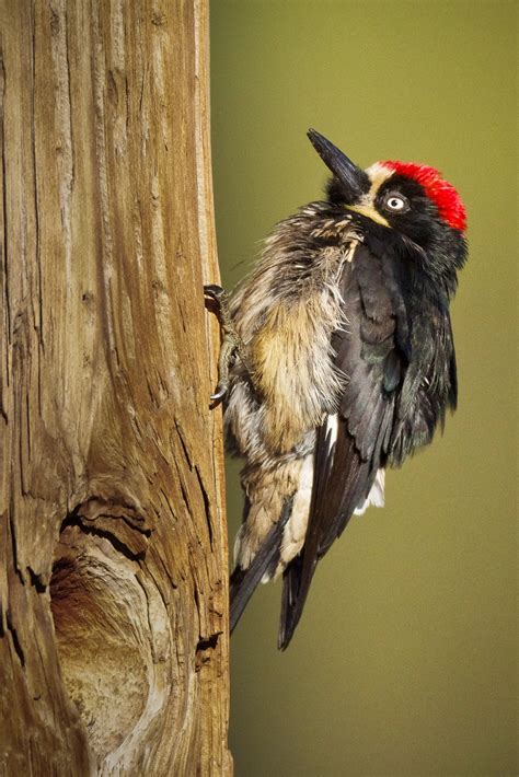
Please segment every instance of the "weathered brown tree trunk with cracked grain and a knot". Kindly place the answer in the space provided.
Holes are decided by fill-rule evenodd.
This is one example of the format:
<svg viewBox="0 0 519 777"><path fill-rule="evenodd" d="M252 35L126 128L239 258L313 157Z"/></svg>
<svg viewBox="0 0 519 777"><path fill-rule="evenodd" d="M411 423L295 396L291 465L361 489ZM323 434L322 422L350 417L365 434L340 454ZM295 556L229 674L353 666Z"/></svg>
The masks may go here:
<svg viewBox="0 0 519 777"><path fill-rule="evenodd" d="M1 0L0 774L228 775L205 0Z"/></svg>

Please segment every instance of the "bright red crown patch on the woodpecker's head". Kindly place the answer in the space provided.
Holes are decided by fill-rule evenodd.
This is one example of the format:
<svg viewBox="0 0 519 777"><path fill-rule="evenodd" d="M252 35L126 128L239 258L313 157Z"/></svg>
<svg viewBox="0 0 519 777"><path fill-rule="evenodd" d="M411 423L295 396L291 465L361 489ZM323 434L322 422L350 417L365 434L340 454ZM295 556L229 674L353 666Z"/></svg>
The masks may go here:
<svg viewBox="0 0 519 777"><path fill-rule="evenodd" d="M438 212L449 227L463 231L466 228L466 212L460 195L454 187L443 181L435 167L414 162L382 162L383 165L394 170L400 175L416 181L420 184L427 196L435 202Z"/></svg>

